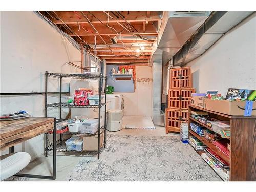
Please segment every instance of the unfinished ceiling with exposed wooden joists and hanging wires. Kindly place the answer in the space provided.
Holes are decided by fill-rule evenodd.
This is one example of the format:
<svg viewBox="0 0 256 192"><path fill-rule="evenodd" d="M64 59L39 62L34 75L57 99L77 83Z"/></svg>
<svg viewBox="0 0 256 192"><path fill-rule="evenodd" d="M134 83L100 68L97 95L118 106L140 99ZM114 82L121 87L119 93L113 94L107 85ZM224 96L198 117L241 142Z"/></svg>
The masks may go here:
<svg viewBox="0 0 256 192"><path fill-rule="evenodd" d="M107 64L148 64L162 11L40 11Z"/></svg>

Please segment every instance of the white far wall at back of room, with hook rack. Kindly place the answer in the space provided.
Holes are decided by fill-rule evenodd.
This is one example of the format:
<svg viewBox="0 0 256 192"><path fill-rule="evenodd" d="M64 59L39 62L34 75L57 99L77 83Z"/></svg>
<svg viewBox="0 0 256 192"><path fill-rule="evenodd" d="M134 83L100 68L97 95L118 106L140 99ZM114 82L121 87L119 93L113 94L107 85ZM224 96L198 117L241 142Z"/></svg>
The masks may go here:
<svg viewBox="0 0 256 192"><path fill-rule="evenodd" d="M152 78L150 66L136 66L137 78ZM124 115L152 117L152 83L137 82L135 92L115 92L124 97Z"/></svg>

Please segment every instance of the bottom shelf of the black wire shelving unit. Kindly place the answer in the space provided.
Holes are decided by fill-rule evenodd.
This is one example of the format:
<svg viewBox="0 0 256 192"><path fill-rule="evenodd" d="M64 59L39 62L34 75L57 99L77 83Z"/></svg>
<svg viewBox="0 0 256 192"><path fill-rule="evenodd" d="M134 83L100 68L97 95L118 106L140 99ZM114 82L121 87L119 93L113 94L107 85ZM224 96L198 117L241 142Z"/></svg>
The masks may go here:
<svg viewBox="0 0 256 192"><path fill-rule="evenodd" d="M95 151L83 151L83 150L82 151L76 151L76 150L68 151L67 147L66 147L66 143L65 143L66 140L67 139L62 139L62 140L57 141L57 144L56 144L57 152L79 153L80 155L84 155L84 156L97 156L98 155L97 150L95 150ZM102 146L100 147L100 153L103 151L104 145L105 145L105 142L103 141ZM50 151L50 152L53 151L53 144L48 146L48 151Z"/></svg>

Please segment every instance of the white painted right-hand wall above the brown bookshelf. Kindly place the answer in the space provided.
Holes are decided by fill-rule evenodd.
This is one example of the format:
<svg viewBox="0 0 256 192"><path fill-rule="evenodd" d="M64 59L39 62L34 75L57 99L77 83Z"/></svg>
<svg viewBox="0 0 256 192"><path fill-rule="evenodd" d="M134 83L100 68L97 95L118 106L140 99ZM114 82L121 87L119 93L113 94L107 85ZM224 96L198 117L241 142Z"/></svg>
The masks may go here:
<svg viewBox="0 0 256 192"><path fill-rule="evenodd" d="M228 88L256 89L256 14L227 32L208 51L187 63L198 93Z"/></svg>

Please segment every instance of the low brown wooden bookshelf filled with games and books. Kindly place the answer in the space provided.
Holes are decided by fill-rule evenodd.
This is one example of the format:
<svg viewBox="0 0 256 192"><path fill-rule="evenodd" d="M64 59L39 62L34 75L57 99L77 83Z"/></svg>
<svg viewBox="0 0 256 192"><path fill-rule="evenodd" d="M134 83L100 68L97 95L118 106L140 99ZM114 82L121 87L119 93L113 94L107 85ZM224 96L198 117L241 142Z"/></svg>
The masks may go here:
<svg viewBox="0 0 256 192"><path fill-rule="evenodd" d="M256 116L230 116L194 105L188 106L189 136L195 136L229 164L229 181L256 181ZM192 110L208 112L210 117L221 121L230 121L231 137L230 158L218 150L211 141L199 136L190 129L190 123L198 123L212 130L211 127L191 117ZM203 151L197 151L201 156Z"/></svg>

